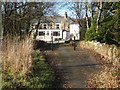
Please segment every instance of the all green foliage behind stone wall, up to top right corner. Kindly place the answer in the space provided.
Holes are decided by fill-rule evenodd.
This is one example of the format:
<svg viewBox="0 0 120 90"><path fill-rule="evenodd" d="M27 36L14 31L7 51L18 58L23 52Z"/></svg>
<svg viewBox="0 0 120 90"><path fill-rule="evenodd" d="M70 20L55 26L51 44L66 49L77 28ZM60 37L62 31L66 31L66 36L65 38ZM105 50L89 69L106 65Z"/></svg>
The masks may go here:
<svg viewBox="0 0 120 90"><path fill-rule="evenodd" d="M106 7L108 6L108 7ZM96 6L93 6L93 8L96 8ZM96 16L94 15L93 21L90 21L93 23L93 25L86 31L85 34L85 40L91 41L96 40L101 43L107 43L107 44L116 44L120 42L119 40L119 3L103 3L101 17L100 17L100 23L98 26L98 30L96 28ZM94 14L94 13L93 13Z"/></svg>

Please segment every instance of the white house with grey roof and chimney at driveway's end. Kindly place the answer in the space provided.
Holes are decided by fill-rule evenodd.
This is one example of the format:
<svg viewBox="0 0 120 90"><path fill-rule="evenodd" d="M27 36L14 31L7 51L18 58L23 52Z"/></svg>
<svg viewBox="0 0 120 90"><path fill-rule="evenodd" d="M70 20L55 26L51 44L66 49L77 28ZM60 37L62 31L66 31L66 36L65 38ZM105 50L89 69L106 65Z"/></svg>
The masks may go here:
<svg viewBox="0 0 120 90"><path fill-rule="evenodd" d="M43 40L46 42L63 40L68 41L75 36L79 40L79 25L73 24L73 19L67 16L65 12L62 16L46 16L40 20L39 28L36 29L38 20L31 21L31 30L33 33L37 31L36 40Z"/></svg>

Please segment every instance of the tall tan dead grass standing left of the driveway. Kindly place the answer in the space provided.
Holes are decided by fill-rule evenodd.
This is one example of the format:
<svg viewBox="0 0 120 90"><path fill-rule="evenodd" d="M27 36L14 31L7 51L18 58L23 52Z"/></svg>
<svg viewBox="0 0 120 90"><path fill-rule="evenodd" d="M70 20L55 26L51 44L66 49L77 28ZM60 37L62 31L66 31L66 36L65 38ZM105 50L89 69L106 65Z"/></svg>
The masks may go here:
<svg viewBox="0 0 120 90"><path fill-rule="evenodd" d="M3 71L9 75L25 75L29 72L32 64L31 53L33 50L32 41L26 37L24 40L19 38L8 38L3 40Z"/></svg>

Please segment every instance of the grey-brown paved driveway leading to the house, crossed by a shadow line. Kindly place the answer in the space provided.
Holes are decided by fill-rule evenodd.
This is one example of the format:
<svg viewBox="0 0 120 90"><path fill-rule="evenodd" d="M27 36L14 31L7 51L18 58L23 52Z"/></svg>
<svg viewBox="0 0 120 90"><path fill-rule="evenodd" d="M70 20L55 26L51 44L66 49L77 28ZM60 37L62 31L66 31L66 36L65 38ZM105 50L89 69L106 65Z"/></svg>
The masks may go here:
<svg viewBox="0 0 120 90"><path fill-rule="evenodd" d="M99 67L101 64L95 60L95 57L81 48L74 51L69 46L59 47L49 51L48 55L51 57L51 62L56 63L55 68L65 77L63 87L85 88L89 76L101 70Z"/></svg>

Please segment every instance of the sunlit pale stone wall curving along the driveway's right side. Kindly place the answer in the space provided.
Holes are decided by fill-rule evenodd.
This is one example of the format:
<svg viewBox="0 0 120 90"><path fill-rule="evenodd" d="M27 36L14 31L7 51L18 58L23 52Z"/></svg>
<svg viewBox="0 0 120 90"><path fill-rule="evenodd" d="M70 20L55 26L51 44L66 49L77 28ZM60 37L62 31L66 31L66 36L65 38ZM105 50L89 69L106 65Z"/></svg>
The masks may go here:
<svg viewBox="0 0 120 90"><path fill-rule="evenodd" d="M79 45L82 48L94 50L104 56L108 62L112 62L115 66L120 66L120 47L95 41L81 41Z"/></svg>

